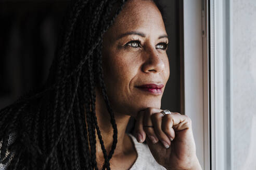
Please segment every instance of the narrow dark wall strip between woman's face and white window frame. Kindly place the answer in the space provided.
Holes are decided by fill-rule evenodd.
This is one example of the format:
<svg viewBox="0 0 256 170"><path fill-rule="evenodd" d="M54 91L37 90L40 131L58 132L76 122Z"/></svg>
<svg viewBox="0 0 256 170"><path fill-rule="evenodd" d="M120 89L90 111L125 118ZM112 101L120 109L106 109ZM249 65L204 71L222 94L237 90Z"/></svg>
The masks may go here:
<svg viewBox="0 0 256 170"><path fill-rule="evenodd" d="M164 11L165 27L169 38L167 50L170 77L164 89L161 109L184 114L184 84L183 84L183 2L179 0L159 1Z"/></svg>

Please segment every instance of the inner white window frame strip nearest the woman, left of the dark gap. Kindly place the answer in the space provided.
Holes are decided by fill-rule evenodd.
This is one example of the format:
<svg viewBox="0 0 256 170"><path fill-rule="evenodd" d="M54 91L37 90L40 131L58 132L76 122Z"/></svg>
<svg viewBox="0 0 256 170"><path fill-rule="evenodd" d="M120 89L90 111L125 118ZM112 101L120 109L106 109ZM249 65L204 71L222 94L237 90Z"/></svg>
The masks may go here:
<svg viewBox="0 0 256 170"><path fill-rule="evenodd" d="M202 0L184 0L185 114L192 120L197 157L210 167L206 10ZM207 45L207 44L206 44Z"/></svg>

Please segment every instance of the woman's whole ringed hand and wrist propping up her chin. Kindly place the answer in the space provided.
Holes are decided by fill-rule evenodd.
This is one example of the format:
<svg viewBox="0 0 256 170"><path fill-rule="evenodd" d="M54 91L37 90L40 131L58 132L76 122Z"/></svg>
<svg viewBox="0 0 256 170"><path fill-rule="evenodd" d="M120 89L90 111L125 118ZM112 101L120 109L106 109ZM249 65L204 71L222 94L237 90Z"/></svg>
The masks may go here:
<svg viewBox="0 0 256 170"><path fill-rule="evenodd" d="M153 157L167 169L201 169L190 118L176 112L163 115L161 111L147 108L138 113L137 140L146 140Z"/></svg>

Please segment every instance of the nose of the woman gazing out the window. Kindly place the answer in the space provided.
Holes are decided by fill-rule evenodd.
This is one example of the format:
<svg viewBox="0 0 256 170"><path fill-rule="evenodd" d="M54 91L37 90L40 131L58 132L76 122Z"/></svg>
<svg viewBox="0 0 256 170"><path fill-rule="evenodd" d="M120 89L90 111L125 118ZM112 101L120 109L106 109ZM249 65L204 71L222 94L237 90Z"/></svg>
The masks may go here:
<svg viewBox="0 0 256 170"><path fill-rule="evenodd" d="M156 49L151 49L146 54L146 60L142 65L142 71L145 73L158 73L164 69L164 62Z"/></svg>

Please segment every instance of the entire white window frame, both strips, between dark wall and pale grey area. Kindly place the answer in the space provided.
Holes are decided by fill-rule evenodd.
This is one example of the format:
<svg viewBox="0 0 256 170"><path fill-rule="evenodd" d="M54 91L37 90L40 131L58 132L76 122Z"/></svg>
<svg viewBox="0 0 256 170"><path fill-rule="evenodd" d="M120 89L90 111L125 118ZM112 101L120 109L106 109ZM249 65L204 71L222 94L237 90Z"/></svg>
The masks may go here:
<svg viewBox="0 0 256 170"><path fill-rule="evenodd" d="M233 169L231 17L231 0L184 0L185 114L202 169Z"/></svg>

